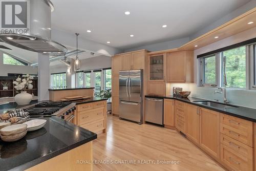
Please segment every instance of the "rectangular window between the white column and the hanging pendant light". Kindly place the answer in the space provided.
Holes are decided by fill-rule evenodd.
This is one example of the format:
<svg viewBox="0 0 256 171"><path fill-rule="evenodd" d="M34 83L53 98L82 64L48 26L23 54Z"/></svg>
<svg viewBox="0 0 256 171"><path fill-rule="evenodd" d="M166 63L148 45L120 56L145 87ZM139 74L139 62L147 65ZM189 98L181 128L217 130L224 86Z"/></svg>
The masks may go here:
<svg viewBox="0 0 256 171"><path fill-rule="evenodd" d="M51 89L67 88L66 73L51 74Z"/></svg>

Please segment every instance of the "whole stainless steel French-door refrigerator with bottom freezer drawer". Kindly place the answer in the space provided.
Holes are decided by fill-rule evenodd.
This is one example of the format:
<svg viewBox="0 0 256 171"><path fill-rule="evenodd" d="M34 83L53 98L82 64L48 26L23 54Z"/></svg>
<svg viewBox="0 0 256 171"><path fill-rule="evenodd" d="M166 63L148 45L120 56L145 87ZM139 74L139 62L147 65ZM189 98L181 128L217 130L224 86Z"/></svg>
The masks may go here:
<svg viewBox="0 0 256 171"><path fill-rule="evenodd" d="M142 124L143 70L119 72L119 117Z"/></svg>

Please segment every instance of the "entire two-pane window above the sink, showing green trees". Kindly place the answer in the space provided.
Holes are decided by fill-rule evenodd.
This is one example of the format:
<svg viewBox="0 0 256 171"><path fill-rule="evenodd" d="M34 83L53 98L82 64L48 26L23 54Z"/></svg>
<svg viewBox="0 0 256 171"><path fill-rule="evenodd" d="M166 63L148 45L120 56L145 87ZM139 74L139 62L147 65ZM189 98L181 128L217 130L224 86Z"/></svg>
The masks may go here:
<svg viewBox="0 0 256 171"><path fill-rule="evenodd" d="M246 46L201 57L202 86L246 88Z"/></svg>

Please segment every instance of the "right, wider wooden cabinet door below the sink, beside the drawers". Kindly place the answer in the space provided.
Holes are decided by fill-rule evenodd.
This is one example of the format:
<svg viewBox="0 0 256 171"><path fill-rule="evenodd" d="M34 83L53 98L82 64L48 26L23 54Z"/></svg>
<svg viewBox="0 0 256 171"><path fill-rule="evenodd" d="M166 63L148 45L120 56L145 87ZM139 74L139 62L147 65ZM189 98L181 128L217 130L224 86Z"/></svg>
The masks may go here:
<svg viewBox="0 0 256 171"><path fill-rule="evenodd" d="M220 113L200 108L200 147L220 160Z"/></svg>

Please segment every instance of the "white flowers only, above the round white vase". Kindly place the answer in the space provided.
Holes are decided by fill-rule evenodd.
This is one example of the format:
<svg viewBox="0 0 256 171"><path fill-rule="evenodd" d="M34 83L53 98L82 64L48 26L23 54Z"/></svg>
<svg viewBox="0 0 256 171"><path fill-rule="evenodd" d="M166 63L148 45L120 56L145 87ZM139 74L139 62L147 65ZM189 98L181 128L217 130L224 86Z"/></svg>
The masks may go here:
<svg viewBox="0 0 256 171"><path fill-rule="evenodd" d="M18 76L18 78L15 81L13 81L13 84L15 85L14 89L16 89L17 91L26 91L29 84L33 82L32 79L34 79L29 74L23 75L23 77L24 78L22 79Z"/></svg>

